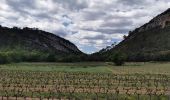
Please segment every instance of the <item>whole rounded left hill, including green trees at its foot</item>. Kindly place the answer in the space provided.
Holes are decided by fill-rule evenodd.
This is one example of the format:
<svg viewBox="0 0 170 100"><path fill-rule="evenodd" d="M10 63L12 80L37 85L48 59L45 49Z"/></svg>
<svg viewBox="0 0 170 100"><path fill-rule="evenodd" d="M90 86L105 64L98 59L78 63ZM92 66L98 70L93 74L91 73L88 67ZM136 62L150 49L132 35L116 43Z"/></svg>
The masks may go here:
<svg viewBox="0 0 170 100"><path fill-rule="evenodd" d="M73 43L36 28L23 29L0 26L0 62L62 61L83 54Z"/></svg>

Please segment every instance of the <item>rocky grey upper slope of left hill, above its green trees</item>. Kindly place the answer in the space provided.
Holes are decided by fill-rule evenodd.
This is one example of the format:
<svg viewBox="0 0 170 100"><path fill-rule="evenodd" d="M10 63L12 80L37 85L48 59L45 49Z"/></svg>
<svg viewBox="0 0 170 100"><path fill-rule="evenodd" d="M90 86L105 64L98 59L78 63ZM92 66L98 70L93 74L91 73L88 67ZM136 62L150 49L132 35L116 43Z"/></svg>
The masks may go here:
<svg viewBox="0 0 170 100"><path fill-rule="evenodd" d="M81 51L70 41L52 33L38 29L17 27L0 27L0 48L21 45L28 49L41 51L80 53Z"/></svg>

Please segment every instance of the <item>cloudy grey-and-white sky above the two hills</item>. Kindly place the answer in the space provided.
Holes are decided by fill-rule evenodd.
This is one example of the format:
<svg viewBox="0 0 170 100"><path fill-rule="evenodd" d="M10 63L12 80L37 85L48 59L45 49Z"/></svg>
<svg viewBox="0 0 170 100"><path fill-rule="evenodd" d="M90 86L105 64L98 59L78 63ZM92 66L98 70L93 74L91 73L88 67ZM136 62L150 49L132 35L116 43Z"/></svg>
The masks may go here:
<svg viewBox="0 0 170 100"><path fill-rule="evenodd" d="M0 25L39 28L93 53L170 7L170 0L0 0Z"/></svg>

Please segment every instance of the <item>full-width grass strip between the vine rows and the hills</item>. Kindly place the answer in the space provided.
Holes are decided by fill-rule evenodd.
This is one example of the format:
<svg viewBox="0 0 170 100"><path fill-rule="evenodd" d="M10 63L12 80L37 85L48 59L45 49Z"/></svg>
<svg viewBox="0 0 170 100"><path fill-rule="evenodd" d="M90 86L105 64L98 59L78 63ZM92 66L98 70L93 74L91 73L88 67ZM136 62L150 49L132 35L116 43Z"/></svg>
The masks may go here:
<svg viewBox="0 0 170 100"><path fill-rule="evenodd" d="M0 65L1 70L23 71L55 71L55 72L95 72L114 74L168 74L170 62L126 63L124 66L114 66L104 62L82 63L13 63Z"/></svg>

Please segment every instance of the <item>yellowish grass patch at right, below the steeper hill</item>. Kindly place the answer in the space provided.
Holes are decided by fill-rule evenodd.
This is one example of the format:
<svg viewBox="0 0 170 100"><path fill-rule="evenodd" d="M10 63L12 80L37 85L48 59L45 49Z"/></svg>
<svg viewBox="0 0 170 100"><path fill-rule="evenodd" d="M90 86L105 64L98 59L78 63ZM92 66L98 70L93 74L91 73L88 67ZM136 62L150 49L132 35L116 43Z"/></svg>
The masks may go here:
<svg viewBox="0 0 170 100"><path fill-rule="evenodd" d="M127 63L124 66L109 66L115 74L167 74L170 75L170 62Z"/></svg>

